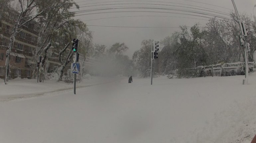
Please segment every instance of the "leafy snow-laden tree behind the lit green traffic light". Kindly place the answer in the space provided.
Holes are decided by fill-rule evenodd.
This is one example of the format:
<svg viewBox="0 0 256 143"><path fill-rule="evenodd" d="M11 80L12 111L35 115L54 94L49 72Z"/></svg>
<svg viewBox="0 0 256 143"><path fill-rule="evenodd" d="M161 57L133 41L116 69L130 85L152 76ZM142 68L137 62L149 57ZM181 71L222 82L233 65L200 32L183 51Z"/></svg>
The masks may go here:
<svg viewBox="0 0 256 143"><path fill-rule="evenodd" d="M49 1L48 3L43 3L43 0L39 0L38 2L42 2L38 7L39 11L47 7L53 7L50 11L44 11L38 20L40 26L37 44L38 48L33 54L35 61L37 61L39 55L43 55L43 59L40 63L39 74L42 75L40 77L44 77L47 72L47 64L45 64L45 61L48 59L48 50L50 49L54 53L60 53L65 56L69 55L64 61L60 60L62 66L66 65L68 63L66 60L71 58L70 52L70 54L64 53L68 48L66 45L78 35L76 28L79 27L81 29L86 29L86 25L80 20L74 20L72 18L75 14L70 12L72 6L75 5L77 9L79 8L73 0L56 0ZM51 43L52 48L49 47L47 50L44 50L44 47L46 47L48 43ZM36 68L34 68L34 73L36 73L35 69Z"/></svg>

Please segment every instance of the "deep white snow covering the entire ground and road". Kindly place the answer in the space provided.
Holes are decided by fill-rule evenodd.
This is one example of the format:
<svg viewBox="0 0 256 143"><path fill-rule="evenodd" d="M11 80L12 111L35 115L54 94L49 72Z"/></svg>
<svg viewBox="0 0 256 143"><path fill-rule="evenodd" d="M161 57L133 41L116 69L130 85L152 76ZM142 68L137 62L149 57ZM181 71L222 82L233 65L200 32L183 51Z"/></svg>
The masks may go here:
<svg viewBox="0 0 256 143"><path fill-rule="evenodd" d="M250 143L256 134L256 73L249 77L249 85L242 85L244 76L159 77L153 85L150 79L128 84L128 78L95 78L83 81L87 87L76 95L72 85L52 81L1 84L2 99L23 96L1 100L0 142Z"/></svg>

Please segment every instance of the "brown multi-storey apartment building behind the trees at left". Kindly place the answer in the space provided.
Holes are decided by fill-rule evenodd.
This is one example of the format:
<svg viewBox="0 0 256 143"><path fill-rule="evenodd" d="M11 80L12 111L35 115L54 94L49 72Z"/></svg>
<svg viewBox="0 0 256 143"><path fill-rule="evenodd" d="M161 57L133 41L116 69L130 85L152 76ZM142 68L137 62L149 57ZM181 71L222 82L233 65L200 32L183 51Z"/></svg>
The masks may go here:
<svg viewBox="0 0 256 143"><path fill-rule="evenodd" d="M5 12L0 21L0 78L5 76L5 61L7 45L9 43L14 19L18 13L9 9L8 13ZM36 49L38 40L39 26L35 22L26 23L19 29L15 37L15 42L10 53L10 76L11 78L21 77L28 78L32 77L33 66L36 61L33 59L33 51ZM58 60L48 61L49 65L55 67L60 65Z"/></svg>

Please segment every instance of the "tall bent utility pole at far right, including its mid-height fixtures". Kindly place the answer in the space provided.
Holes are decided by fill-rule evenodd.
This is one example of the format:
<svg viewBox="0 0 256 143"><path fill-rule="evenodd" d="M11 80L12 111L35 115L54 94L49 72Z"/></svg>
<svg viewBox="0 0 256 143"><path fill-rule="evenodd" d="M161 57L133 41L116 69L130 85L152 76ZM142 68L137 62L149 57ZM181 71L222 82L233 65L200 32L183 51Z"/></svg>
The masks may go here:
<svg viewBox="0 0 256 143"><path fill-rule="evenodd" d="M234 9L235 9L235 12L236 12L236 15L237 15L237 19L238 19L238 22L239 22L240 30L241 30L241 35L239 36L240 37L240 45L244 46L245 79L243 79L243 85L246 85L248 83L248 74L249 74L249 72L248 72L247 44L245 43L244 40L245 40L245 37L247 36L247 32L246 32L246 28L245 28L244 23L242 23L240 18L239 18L239 14L238 14L238 11L236 9L234 0L231 0L231 1L233 3Z"/></svg>

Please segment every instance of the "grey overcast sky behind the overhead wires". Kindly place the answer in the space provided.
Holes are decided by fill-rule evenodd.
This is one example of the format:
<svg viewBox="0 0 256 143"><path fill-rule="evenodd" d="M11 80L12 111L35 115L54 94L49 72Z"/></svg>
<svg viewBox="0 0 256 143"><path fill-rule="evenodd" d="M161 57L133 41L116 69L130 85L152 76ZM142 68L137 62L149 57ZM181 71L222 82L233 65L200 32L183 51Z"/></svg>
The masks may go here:
<svg viewBox="0 0 256 143"><path fill-rule="evenodd" d="M115 2L113 2L115 1ZM239 12L253 14L253 7L256 0L234 0ZM100 10L79 13L75 18L79 18L93 31L93 42L111 47L116 42L124 42L129 50L124 54L132 57L134 51L141 48L141 42L145 39L162 40L178 31L180 25L192 26L199 22L204 26L209 15L221 17L229 16L223 13L229 13L234 10L231 0L75 0L80 5L79 11L98 8L118 8L111 10ZM166 3L167 2L167 3ZM205 4L204 4L205 3ZM113 5L118 4L118 5ZM157 5L155 5L157 4ZM99 6L95 6L99 5ZM134 7L161 8L161 9L131 9ZM129 9L120 9L129 8ZM168 9L168 10L163 10ZM173 9L173 10L170 10ZM189 10L196 13L184 12L178 10ZM120 12L122 11L122 12ZM126 12L124 12L126 11ZM129 12L127 12L129 11ZM144 11L144 12L135 12ZM147 12L145 12L147 11ZM256 11L256 8L255 8ZM102 12L111 12L103 13ZM112 13L114 12L114 13ZM160 12L160 13L159 13ZM164 12L164 13L163 13ZM198 14L207 13L207 15ZM100 14L91 14L100 13ZM179 13L179 14L177 14ZM84 15L86 14L86 15ZM196 16L192 16L196 15ZM132 16L132 17L131 17ZM135 17L134 17L135 16ZM140 17L138 17L140 16ZM143 16L143 17L141 17ZM149 17L151 16L151 17ZM152 17L153 16L153 17ZM161 16L161 17L157 17ZM111 18L119 17L119 18ZM122 17L122 18L120 18ZM105 18L105 19L99 19ZM197 18L197 19L193 19ZM97 19L97 20L92 20ZM201 20L205 19L205 20ZM89 21L86 21L89 20ZM127 26L127 27L100 27L100 26ZM131 27L155 27L155 28L130 28ZM163 27L163 28L158 28ZM165 27L165 28L164 28ZM161 47L161 45L160 45Z"/></svg>

